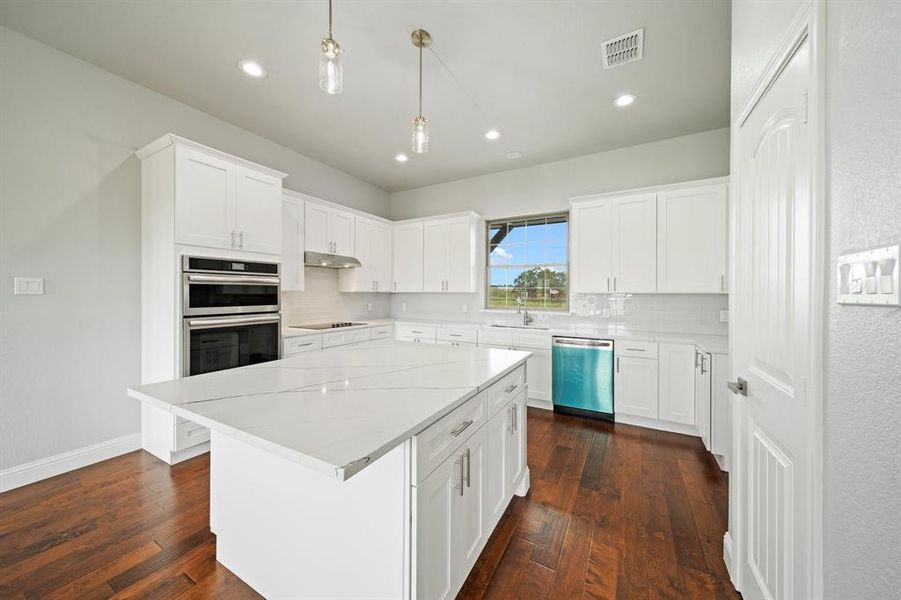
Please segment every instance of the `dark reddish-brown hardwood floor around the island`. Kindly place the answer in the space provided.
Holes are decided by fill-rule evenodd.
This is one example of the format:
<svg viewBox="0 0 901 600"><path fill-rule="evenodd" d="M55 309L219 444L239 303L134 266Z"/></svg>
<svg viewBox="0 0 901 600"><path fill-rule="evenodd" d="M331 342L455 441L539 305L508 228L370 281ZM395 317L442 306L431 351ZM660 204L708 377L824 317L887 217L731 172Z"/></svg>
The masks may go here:
<svg viewBox="0 0 901 600"><path fill-rule="evenodd" d="M529 409L532 489L460 598L737 598L696 438ZM209 458L133 452L0 494L0 598L259 598L216 562Z"/></svg>

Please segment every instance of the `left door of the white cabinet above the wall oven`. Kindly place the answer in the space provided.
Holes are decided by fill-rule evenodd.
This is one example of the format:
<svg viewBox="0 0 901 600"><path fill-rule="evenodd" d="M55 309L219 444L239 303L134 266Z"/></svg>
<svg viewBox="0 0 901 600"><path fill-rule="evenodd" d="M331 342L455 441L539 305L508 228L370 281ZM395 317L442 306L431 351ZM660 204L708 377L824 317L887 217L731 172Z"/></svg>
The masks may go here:
<svg viewBox="0 0 901 600"><path fill-rule="evenodd" d="M175 241L234 248L235 165L191 148L175 150Z"/></svg>

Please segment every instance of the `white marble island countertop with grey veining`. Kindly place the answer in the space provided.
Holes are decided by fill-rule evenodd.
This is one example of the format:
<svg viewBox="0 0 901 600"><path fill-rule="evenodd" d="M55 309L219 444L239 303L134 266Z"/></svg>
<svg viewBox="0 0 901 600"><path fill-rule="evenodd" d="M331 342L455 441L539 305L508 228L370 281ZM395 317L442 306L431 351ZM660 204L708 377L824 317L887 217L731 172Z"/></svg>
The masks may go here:
<svg viewBox="0 0 901 600"><path fill-rule="evenodd" d="M390 352L310 352L128 395L343 481L529 356L394 342Z"/></svg>

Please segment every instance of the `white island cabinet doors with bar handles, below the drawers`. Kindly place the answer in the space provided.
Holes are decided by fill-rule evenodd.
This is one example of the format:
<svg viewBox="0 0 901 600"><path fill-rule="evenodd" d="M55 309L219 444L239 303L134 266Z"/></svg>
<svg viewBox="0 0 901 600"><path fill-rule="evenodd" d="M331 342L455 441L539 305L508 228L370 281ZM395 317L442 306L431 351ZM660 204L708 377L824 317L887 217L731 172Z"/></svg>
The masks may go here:
<svg viewBox="0 0 901 600"><path fill-rule="evenodd" d="M525 394L519 394L413 488L418 600L456 597L521 485L525 409Z"/></svg>

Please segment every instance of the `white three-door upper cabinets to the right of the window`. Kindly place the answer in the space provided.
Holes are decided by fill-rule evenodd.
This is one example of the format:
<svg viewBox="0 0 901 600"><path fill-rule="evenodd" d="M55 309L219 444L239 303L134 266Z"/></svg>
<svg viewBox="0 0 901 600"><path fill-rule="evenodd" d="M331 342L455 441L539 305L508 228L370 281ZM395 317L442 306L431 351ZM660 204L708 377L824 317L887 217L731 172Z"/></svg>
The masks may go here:
<svg viewBox="0 0 901 600"><path fill-rule="evenodd" d="M577 294L726 293L727 184L572 200Z"/></svg>

